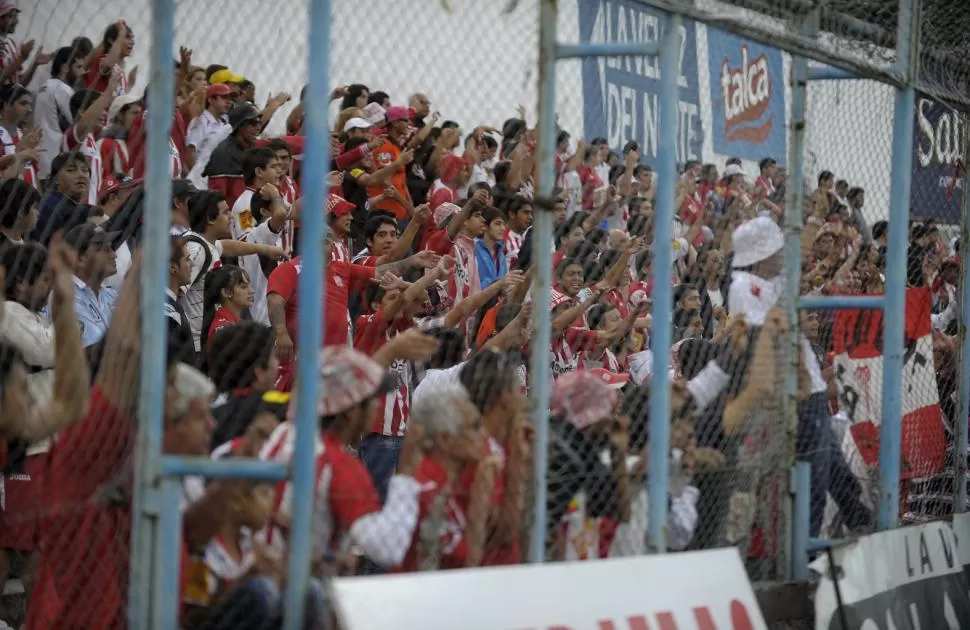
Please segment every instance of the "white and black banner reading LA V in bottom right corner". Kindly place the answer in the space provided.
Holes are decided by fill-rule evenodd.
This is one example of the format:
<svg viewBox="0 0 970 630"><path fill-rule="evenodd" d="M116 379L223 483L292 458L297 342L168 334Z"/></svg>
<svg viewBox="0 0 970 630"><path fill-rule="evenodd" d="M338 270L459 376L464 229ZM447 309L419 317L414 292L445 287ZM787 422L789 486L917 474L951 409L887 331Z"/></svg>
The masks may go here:
<svg viewBox="0 0 970 630"><path fill-rule="evenodd" d="M948 523L865 536L835 549L833 559L834 580L827 556L812 566L822 575L815 596L816 630L970 628L968 584L957 536Z"/></svg>

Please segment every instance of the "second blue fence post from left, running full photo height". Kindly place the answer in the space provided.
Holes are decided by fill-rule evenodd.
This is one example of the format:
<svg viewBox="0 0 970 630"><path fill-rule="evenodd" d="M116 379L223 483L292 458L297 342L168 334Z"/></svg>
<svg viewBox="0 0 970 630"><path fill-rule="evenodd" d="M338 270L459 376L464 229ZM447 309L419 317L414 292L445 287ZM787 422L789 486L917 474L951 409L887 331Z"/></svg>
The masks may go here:
<svg viewBox="0 0 970 630"><path fill-rule="evenodd" d="M323 255L330 141L327 107L330 103L330 9L331 0L310 0L310 83L306 98L306 145L303 161L303 207L300 217L300 312L297 331L296 444L293 450L293 514L288 542L284 630L303 627L304 602L310 582L312 551L311 518L315 498L314 451L317 428L317 358L322 345L323 278L327 261Z"/></svg>

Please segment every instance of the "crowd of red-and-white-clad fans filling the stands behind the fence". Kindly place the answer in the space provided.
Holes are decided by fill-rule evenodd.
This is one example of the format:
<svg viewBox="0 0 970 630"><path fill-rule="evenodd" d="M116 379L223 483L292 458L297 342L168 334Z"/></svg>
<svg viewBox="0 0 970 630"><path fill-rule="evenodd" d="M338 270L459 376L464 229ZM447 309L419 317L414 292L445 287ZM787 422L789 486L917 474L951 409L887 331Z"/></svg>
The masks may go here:
<svg viewBox="0 0 970 630"><path fill-rule="evenodd" d="M119 20L99 42L34 53L16 42L17 15L0 0L0 576L21 565L27 628L122 628L139 301L162 290L139 284L146 101L125 65L136 40ZM165 453L288 462L290 392L316 378L314 576L519 563L540 352L555 377L548 558L644 553L647 400L663 364L649 313L653 292L671 291L668 547L776 553L781 494L758 496L785 454L775 469L749 465L763 433L784 433L777 408L761 432L750 423L781 371L762 341L787 327L775 160L758 172L691 161L657 182L635 142L613 151L560 130L557 187L539 199L524 112L468 130L426 94L355 84L332 95L331 172L301 173L304 104L287 135L266 137L290 95L259 107L244 77L196 63L180 51L172 103ZM49 78L35 92L38 67ZM304 208L300 178L324 176L326 208ZM654 239L657 186L676 188L670 287L653 282L654 248L671 245ZM886 223L866 222L865 191L823 172L807 199L802 292L882 291ZM317 374L295 372L315 351L297 335L311 315L298 307L302 212L328 223ZM531 238L537 212L553 213L554 242ZM952 400L958 263L936 226L912 237L909 280L933 287L941 402ZM536 247L553 252L549 348L531 345ZM814 534L827 495L845 527L872 519L830 424L830 329L802 316L797 451L813 466ZM746 466L753 481L739 480ZM287 482L185 481L183 627L278 622L291 501ZM323 591L307 597L320 623Z"/></svg>

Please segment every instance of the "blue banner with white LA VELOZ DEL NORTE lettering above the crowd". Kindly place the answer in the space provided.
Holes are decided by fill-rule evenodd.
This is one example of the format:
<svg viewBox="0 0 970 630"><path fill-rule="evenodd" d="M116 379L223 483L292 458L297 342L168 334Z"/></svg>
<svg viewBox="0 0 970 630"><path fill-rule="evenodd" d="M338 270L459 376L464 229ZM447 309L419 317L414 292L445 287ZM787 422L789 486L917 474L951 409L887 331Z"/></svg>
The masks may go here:
<svg viewBox="0 0 970 630"><path fill-rule="evenodd" d="M579 3L580 41L659 42L666 20L631 0ZM697 39L693 22L681 33L677 103L677 161L701 159L704 133L697 89ZM619 150L640 144L641 161L654 165L659 141L660 60L657 57L599 57L582 60L583 126L587 139L604 137Z"/></svg>

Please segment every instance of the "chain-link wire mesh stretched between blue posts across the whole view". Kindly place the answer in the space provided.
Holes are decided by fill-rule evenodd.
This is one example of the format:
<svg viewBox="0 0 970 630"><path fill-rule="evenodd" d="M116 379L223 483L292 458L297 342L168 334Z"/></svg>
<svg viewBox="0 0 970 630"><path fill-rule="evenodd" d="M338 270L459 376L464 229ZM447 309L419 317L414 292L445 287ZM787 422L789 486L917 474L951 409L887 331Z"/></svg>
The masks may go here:
<svg viewBox="0 0 970 630"><path fill-rule="evenodd" d="M911 519L952 511L963 321L951 239L966 81L942 32L962 17L924 4L918 65L932 97L913 117L899 480ZM329 173L302 168L306 3L177 2L163 452L289 465L290 397L298 377L319 379L313 544L296 550L315 578L518 564L539 532L548 561L641 555L650 377L666 365L668 551L734 546L752 580L786 577L795 461L812 465L812 536L870 531L883 315L803 312L790 408L778 279L796 261L802 295L885 290L898 11L666 8L703 18L681 32L676 180L654 174L658 60L571 60L557 68L555 199L535 201L538 0L336 0ZM0 416L27 419L5 429L0 495L0 619L13 627L124 623L130 418L150 389L139 390L139 299L163 290L138 281L151 19L149 0L0 1ZM659 42L664 24L636 0L558 3L563 42ZM809 83L800 260L780 227L796 179L792 57L754 34L872 77ZM322 210L302 206L301 183L324 177L321 316L299 304L299 278L314 273L299 236L301 213ZM656 287L664 189L674 283ZM534 212L554 213L553 243L532 242ZM546 308L532 302L535 247L554 250L550 348L533 347ZM655 290L673 296L667 361L650 352ZM322 320L329 346L317 375L296 374L312 352L306 318ZM539 401L551 413L540 527L526 402L536 353L554 378ZM279 614L292 492L184 480L183 626ZM329 619L323 591L309 596L311 619Z"/></svg>

